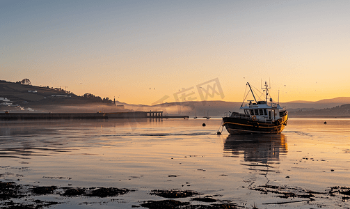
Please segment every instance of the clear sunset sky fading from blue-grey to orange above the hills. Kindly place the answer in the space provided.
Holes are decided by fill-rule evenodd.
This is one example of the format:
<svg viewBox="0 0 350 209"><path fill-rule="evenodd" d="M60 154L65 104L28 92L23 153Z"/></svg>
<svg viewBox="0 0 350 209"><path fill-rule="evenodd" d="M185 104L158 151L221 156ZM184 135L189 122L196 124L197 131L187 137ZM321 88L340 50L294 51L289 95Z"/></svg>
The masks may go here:
<svg viewBox="0 0 350 209"><path fill-rule="evenodd" d="M242 102L247 82L264 81L280 102L350 97L349 10L349 0L0 0L0 79L130 104Z"/></svg>

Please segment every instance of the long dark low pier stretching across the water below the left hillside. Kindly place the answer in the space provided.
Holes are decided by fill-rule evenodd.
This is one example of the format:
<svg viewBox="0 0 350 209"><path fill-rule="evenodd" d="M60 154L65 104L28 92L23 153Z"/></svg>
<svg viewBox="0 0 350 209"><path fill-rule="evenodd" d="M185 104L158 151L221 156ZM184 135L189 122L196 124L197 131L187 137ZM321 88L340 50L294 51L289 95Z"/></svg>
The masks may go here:
<svg viewBox="0 0 350 209"><path fill-rule="evenodd" d="M84 114L61 114L61 113L0 113L1 121L11 120L73 120L73 119L113 119L113 118L189 118L184 115L164 116L163 111L129 111L111 113L84 113Z"/></svg>

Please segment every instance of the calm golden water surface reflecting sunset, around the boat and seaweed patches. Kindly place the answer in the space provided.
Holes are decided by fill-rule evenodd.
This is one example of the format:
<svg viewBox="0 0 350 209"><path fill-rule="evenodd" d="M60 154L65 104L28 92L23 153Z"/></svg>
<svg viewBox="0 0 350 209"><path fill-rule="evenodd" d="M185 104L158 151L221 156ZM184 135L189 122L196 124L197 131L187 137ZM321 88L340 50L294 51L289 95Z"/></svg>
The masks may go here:
<svg viewBox="0 0 350 209"><path fill-rule="evenodd" d="M195 190L246 208L350 207L340 195L319 194L308 201L252 189L273 185L284 192L328 192L350 187L350 119L289 118L283 134L234 136L225 130L215 134L221 118L0 125L2 181L136 189L118 201L40 197L62 202L50 208L132 208L163 199L150 195L152 189ZM294 202L276 204L288 201Z"/></svg>

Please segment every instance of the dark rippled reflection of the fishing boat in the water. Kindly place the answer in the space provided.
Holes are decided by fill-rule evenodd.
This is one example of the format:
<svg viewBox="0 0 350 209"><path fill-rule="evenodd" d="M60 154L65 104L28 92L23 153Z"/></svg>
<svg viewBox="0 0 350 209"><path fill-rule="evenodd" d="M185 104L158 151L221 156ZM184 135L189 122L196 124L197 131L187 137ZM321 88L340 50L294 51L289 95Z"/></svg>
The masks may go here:
<svg viewBox="0 0 350 209"><path fill-rule="evenodd" d="M224 157L244 155L246 162L278 161L280 155L287 155L287 142L283 134L229 135L223 147Z"/></svg>

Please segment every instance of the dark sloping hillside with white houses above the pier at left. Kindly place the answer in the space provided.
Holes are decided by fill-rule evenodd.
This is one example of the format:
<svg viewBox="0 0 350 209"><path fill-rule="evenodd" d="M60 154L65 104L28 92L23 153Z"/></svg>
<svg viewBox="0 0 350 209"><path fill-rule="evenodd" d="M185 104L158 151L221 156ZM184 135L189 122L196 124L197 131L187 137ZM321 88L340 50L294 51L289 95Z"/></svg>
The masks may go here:
<svg viewBox="0 0 350 209"><path fill-rule="evenodd" d="M108 98L100 98L87 93L75 95L61 88L49 88L0 81L0 98L10 100L12 105L0 105L0 111L34 111L45 112L95 112L116 111L116 107ZM3 103L1 100L0 103Z"/></svg>

